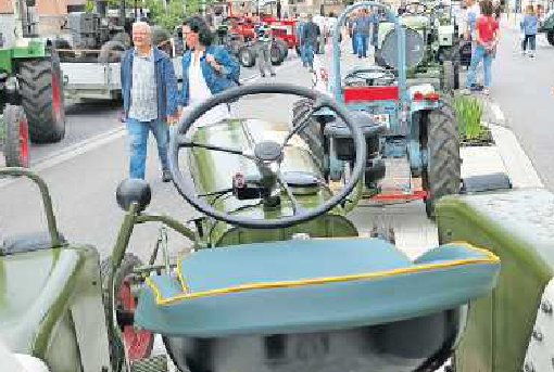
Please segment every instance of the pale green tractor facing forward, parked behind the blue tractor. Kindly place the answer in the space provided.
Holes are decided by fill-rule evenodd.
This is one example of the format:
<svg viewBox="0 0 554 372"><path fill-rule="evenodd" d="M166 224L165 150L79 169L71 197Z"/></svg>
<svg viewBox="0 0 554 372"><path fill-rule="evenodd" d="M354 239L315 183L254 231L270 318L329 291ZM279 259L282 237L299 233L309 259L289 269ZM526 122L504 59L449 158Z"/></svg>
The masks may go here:
<svg viewBox="0 0 554 372"><path fill-rule="evenodd" d="M407 77L432 79L449 93L458 89L458 34L451 7L442 2L414 1L406 7L400 23L405 27ZM396 53L394 23L380 23L375 52L377 64L396 68Z"/></svg>

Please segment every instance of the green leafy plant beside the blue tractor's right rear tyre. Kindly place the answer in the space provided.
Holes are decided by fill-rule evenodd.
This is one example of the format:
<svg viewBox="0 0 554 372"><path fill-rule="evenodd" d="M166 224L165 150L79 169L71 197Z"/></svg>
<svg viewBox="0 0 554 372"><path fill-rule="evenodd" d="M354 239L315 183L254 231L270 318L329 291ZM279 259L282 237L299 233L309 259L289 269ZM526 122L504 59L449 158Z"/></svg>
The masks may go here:
<svg viewBox="0 0 554 372"><path fill-rule="evenodd" d="M479 138L484 126L481 123L483 107L475 98L456 95L454 98L454 110L459 121L459 133L467 140Z"/></svg>

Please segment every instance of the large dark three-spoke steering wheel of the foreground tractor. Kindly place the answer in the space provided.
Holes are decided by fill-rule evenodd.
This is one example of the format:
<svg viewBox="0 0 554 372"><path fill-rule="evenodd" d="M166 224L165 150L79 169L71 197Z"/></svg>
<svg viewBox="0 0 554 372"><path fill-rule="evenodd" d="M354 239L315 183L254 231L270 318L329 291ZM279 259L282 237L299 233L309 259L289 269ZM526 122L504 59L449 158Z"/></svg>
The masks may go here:
<svg viewBox="0 0 554 372"><path fill-rule="evenodd" d="M216 146L207 143L198 143L187 137L188 132L193 127L194 121L211 108L219 104L236 102L241 97L253 94L299 95L313 100L314 104L313 107L305 115L303 115L302 120L297 123L297 125L287 133L284 143L278 143L275 141L263 141L256 143L253 149L236 149ZM352 175L342 190L338 194L332 195L325 203L314 208L306 209L299 204L292 191L289 189L289 185L287 184L280 171L280 165L285 156L284 147L288 145L287 143L295 134L300 133L307 127L310 123L309 118L312 114L324 107L332 111L340 119L344 121L344 124L350 129L353 137L356 157L352 169ZM279 219L254 219L215 209L212 205L206 203L202 196L198 194L191 175L189 172L186 172L185 175L179 168L179 150L182 147L202 147L211 151L219 151L241 155L253 161L260 170L262 182L264 184L269 184L272 191L274 192L284 191L287 194L292 205L292 215L285 216ZM172 134L168 154L169 171L173 176L173 182L181 196L185 197L194 208L207 216L228 222L230 225L262 229L285 228L297 225L299 222L323 215L333 208L336 205L347 198L350 192L354 189L356 182L362 178L365 166L365 137L360 127L355 125L354 120L345 108L340 106L335 100L327 95L317 93L307 88L286 84L245 85L228 89L219 94L212 95L210 99L197 105L187 115L180 118L176 130ZM229 180L229 182L231 180Z"/></svg>

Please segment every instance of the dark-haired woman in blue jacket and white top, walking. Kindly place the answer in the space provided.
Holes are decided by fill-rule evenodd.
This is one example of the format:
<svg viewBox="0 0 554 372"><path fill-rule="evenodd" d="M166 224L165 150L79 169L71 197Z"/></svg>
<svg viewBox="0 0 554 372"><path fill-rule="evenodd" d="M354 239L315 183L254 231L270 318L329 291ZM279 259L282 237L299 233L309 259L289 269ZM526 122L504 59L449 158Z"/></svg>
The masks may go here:
<svg viewBox="0 0 554 372"><path fill-rule="evenodd" d="M212 46L213 35L201 16L185 20L182 38L189 47L182 54L181 103L187 110L236 86L240 66L225 48ZM228 117L228 106L218 105L200 117L197 125L217 123Z"/></svg>

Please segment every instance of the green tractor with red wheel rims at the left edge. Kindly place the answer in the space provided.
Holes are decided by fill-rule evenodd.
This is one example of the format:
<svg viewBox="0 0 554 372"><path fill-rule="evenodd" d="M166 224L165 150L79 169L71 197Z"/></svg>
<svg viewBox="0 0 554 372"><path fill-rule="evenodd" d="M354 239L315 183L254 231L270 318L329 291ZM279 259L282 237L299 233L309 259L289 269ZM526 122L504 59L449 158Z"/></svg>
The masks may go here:
<svg viewBox="0 0 554 372"><path fill-rule="evenodd" d="M17 162L24 165L28 162L28 146L24 144L27 138L25 123L28 123L28 137L36 143L58 142L65 134L63 79L53 47L36 37L34 0L13 0L13 5L17 20L15 41L0 48L0 75L3 76L0 110L4 110L4 125L13 120L20 123L20 129L7 128L4 140L21 132L21 145L11 152L15 157L23 156ZM25 115L20 108L7 107L7 104L22 106Z"/></svg>

